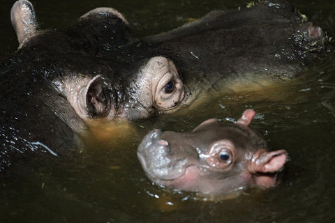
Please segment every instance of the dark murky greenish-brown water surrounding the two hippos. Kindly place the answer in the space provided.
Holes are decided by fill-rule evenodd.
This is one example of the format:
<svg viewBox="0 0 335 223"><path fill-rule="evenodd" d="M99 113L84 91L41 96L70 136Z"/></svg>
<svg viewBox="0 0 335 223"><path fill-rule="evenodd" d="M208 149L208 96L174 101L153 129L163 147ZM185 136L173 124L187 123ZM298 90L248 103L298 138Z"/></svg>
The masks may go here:
<svg viewBox="0 0 335 223"><path fill-rule="evenodd" d="M13 2L0 0L1 56L17 48L9 17ZM92 8L111 6L124 13L137 36L247 2L32 1L43 28L66 26ZM292 3L334 33L335 1ZM301 77L262 91L209 95L197 107L120 128L95 128L88 148L73 159L22 166L13 178L0 181L0 222L335 222L335 54ZM289 153L280 185L214 202L171 192L146 178L135 152L149 130L191 130L212 117L236 120L246 108L257 112L252 127L269 146Z"/></svg>

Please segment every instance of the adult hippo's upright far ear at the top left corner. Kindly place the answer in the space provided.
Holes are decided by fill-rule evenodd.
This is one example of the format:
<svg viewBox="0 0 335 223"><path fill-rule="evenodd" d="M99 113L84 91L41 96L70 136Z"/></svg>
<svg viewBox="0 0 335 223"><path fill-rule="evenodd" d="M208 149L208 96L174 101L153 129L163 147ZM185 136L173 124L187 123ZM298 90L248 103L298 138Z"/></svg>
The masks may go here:
<svg viewBox="0 0 335 223"><path fill-rule="evenodd" d="M21 47L37 31L38 24L33 5L27 0L16 1L10 10L10 20Z"/></svg>

